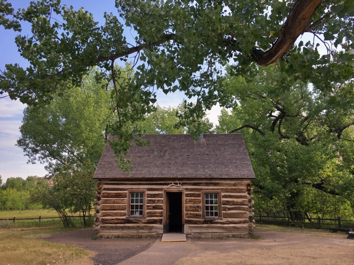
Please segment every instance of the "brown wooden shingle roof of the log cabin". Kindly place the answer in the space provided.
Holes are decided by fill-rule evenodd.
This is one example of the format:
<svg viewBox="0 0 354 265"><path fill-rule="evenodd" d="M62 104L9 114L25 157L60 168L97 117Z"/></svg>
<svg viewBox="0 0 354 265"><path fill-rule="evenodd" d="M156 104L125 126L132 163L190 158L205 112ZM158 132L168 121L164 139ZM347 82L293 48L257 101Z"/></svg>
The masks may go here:
<svg viewBox="0 0 354 265"><path fill-rule="evenodd" d="M133 144L126 156L132 159L131 172L119 168L106 143L94 179L255 177L241 134L205 134L199 141L188 134L142 138L150 140L149 146Z"/></svg>

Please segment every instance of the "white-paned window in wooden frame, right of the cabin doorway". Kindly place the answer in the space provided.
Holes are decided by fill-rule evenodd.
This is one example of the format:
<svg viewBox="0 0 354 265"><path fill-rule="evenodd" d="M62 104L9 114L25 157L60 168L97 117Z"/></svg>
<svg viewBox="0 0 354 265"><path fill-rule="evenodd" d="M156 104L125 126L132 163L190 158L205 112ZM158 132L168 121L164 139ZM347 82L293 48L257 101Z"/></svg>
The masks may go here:
<svg viewBox="0 0 354 265"><path fill-rule="evenodd" d="M222 218L221 192L216 190L202 191L203 217Z"/></svg>

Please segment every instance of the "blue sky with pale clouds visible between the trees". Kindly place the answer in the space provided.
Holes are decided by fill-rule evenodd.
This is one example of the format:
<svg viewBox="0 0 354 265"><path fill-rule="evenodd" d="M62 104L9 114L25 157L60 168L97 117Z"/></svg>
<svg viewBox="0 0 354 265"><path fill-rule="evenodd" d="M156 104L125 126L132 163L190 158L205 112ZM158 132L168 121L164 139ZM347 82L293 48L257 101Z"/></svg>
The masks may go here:
<svg viewBox="0 0 354 265"><path fill-rule="evenodd" d="M9 2L17 10L27 7L30 0L9 0ZM62 0L62 4L72 5L76 10L83 6L85 10L93 14L96 21L104 21L104 12L112 12L114 15L117 15L114 3L114 0ZM29 31L29 27L24 27L22 28L21 35L25 35ZM131 36L129 32L126 33L127 36ZM28 65L21 58L14 42L18 34L11 30L5 30L0 26L0 70L4 70L4 66L7 63L19 63L22 67ZM167 107L177 106L182 102L184 97L181 93L166 96L162 92L159 92L157 98L157 103L160 106ZM8 97L0 98L0 176L2 183L5 183L7 178L10 177L25 179L28 176L43 177L47 173L43 164L27 163L27 157L24 156L22 149L15 145L21 137L20 126L25 107L20 101L11 101ZM207 112L209 120L214 125L217 123L219 114L219 106L215 106Z"/></svg>

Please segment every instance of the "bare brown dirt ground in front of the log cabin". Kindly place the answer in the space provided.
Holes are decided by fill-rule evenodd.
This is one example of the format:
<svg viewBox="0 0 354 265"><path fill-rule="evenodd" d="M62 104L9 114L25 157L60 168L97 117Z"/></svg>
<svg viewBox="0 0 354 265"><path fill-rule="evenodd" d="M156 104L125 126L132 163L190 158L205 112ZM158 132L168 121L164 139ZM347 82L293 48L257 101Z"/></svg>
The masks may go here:
<svg viewBox="0 0 354 265"><path fill-rule="evenodd" d="M54 234L46 240L95 251L97 254L92 258L95 265L115 265L124 260L126 260L124 263L129 260L135 262L141 260L141 264L148 265L146 263L148 255L166 257L166 265L354 264L354 240L347 239L344 233L257 229L255 234L259 239L188 239L187 250L186 248L181 250L183 251L181 258L171 263L168 263L169 257L178 249L168 253L163 249L159 252L158 244L150 248L156 239L92 240L92 230L84 229ZM131 258L133 256L134 258Z"/></svg>

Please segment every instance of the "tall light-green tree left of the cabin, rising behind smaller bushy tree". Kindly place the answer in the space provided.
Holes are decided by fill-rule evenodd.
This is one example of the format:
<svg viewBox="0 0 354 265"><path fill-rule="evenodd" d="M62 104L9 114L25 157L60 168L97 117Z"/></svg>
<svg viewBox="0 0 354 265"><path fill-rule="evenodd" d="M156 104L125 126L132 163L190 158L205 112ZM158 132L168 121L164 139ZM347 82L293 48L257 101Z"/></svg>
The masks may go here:
<svg viewBox="0 0 354 265"><path fill-rule="evenodd" d="M98 163L105 143L104 131L110 121L110 91L97 89L94 74L82 87L71 87L46 106L24 110L17 145L29 163L48 163L55 174L63 165Z"/></svg>

